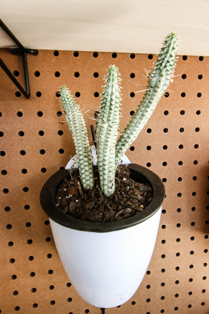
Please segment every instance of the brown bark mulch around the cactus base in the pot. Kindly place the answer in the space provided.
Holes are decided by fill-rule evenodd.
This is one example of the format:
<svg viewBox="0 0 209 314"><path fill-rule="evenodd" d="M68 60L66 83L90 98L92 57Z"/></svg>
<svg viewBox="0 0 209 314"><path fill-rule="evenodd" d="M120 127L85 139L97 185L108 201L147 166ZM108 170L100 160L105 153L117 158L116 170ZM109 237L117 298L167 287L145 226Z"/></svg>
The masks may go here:
<svg viewBox="0 0 209 314"><path fill-rule="evenodd" d="M94 166L95 187L84 190L79 172L61 184L55 196L59 210L76 219L93 222L110 222L139 214L151 202L153 194L149 184L129 178L130 170L119 165L115 175L115 192L106 198L100 188L98 168Z"/></svg>

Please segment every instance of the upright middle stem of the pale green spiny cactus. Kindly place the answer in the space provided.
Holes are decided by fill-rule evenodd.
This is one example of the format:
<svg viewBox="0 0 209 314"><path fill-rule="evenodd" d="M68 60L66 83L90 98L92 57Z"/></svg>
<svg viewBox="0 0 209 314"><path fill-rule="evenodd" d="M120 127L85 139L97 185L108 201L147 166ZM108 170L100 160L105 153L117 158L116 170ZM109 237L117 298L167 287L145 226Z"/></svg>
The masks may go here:
<svg viewBox="0 0 209 314"><path fill-rule="evenodd" d="M101 190L106 197L115 190L115 145L118 137L120 81L118 68L109 67L96 128L97 164Z"/></svg>

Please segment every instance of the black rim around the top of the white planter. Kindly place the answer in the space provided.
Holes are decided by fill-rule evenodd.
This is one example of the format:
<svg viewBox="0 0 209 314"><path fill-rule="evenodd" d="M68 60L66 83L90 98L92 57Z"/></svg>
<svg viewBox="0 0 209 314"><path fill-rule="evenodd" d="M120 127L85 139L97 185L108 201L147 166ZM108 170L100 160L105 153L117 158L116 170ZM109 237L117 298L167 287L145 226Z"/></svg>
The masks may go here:
<svg viewBox="0 0 209 314"><path fill-rule="evenodd" d="M149 219L159 210L165 198L165 187L159 176L153 171L137 164L129 164L128 168L130 169L131 177L134 180L139 178L138 176L141 176L144 179L146 178L146 181L149 182L153 188L153 199L151 203L142 212L139 212L130 218L114 222L89 222L63 214L55 204L55 193L64 179L67 179L70 176L69 170L59 170L46 181L40 192L41 206L50 219L67 228L81 231L110 232L137 225L144 220ZM76 170L78 169L74 169L73 171Z"/></svg>

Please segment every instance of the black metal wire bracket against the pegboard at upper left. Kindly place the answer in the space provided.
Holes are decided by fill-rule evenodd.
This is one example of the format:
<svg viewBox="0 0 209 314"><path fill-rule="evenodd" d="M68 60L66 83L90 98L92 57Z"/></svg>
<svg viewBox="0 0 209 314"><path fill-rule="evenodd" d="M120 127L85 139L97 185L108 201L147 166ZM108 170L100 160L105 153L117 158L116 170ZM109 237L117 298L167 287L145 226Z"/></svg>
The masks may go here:
<svg viewBox="0 0 209 314"><path fill-rule="evenodd" d="M13 33L8 29L8 27L4 24L4 22L0 19L1 28L9 35L9 37L13 40L13 42L19 48L13 48L11 53L16 55L17 53L22 53L23 55L23 68L24 68L24 78L25 78L25 89L19 84L18 80L14 77L14 75L10 72L6 64L0 58L0 67L3 71L8 75L8 77L13 81L13 83L17 86L17 88L21 91L21 93L27 98L30 98L30 86L29 86L29 77L28 77L28 63L27 63L27 53L31 53L34 56L38 55L38 50L35 49L27 49L18 41L18 39L13 35Z"/></svg>

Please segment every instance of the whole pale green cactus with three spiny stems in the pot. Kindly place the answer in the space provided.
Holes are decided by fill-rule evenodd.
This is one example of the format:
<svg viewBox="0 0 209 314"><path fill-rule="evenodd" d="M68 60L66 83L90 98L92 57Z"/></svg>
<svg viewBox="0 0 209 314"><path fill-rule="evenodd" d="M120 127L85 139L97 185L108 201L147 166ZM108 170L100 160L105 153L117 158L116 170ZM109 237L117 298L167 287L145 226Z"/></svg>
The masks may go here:
<svg viewBox="0 0 209 314"><path fill-rule="evenodd" d="M119 85L121 79L119 78L118 68L114 65L109 67L108 74L105 77L106 84L102 93L96 129L97 163L101 190L106 197L114 193L115 171L123 154L137 138L170 81L173 81L177 46L177 36L174 33L165 38L158 60L154 63L155 67L152 67L153 70L148 75L148 86L145 95L132 119L121 133L118 142L121 100ZM85 189L93 187L91 150L83 115L66 87L62 86L60 93L65 118L76 146L81 184Z"/></svg>

